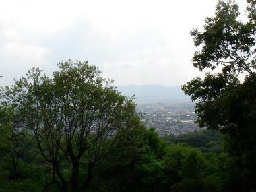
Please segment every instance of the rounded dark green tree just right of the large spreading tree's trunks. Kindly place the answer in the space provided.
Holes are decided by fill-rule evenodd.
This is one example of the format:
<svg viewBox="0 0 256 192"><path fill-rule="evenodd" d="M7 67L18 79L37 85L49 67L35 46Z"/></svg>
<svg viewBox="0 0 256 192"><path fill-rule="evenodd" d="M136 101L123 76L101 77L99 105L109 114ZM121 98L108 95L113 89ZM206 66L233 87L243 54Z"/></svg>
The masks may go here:
<svg viewBox="0 0 256 192"><path fill-rule="evenodd" d="M161 191L164 164L156 152L161 145L154 129L131 129L97 168L92 191L99 186L101 191Z"/></svg>

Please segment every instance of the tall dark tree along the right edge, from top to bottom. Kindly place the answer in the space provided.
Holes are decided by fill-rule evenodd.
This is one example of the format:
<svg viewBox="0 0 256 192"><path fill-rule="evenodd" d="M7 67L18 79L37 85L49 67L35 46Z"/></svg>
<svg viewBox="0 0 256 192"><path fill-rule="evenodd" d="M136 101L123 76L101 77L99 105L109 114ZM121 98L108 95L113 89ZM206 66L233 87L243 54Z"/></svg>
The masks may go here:
<svg viewBox="0 0 256 192"><path fill-rule="evenodd" d="M235 1L218 1L203 31L191 35L199 51L193 66L212 70L182 86L197 102L199 127L226 136L230 155L225 191L256 190L256 1L247 0L247 18Z"/></svg>

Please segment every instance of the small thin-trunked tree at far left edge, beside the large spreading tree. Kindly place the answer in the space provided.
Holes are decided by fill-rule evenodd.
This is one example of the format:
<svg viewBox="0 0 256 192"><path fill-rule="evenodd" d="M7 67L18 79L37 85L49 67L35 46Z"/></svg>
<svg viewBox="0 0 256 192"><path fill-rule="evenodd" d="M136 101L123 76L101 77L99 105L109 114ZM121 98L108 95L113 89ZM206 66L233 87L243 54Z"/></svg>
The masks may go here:
<svg viewBox="0 0 256 192"><path fill-rule="evenodd" d="M27 130L15 124L11 111L12 108L0 105L0 166L7 170L7 179L18 181L26 177L24 169L32 161L34 146Z"/></svg>

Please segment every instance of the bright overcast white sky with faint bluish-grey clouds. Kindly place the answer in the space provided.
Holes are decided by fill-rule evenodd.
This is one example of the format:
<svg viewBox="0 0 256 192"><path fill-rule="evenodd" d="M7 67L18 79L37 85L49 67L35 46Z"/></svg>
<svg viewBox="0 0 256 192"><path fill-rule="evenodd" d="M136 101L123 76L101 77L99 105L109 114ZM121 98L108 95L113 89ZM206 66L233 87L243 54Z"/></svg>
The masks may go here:
<svg viewBox="0 0 256 192"><path fill-rule="evenodd" d="M241 9L246 0L238 0ZM0 0L0 86L39 67L89 61L116 86L181 86L202 75L189 32L217 0Z"/></svg>

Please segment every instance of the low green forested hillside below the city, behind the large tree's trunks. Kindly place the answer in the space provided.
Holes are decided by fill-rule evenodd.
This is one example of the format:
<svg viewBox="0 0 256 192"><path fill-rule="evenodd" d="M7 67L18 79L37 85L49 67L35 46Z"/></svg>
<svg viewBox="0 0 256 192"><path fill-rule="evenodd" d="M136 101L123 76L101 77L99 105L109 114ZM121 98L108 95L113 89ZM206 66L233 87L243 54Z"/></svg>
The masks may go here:
<svg viewBox="0 0 256 192"><path fill-rule="evenodd" d="M2 124L1 191L63 191L61 179L42 156L34 134L16 135L13 131L10 125ZM82 183L88 177L90 157L84 154L79 162ZM222 136L214 131L160 138L154 129L137 125L119 135L108 156L94 166L86 190L221 191L232 179L226 177L230 166L232 160L223 152ZM59 169L67 181L66 190L71 191L70 159L63 157Z"/></svg>

